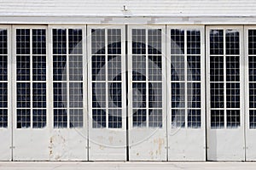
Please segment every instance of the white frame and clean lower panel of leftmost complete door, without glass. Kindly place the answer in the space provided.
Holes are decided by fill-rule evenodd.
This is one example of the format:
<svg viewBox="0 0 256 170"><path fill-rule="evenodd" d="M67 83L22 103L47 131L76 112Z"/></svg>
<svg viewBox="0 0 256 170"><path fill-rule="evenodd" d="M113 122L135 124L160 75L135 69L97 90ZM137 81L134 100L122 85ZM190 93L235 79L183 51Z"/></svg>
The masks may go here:
<svg viewBox="0 0 256 170"><path fill-rule="evenodd" d="M44 128L32 128L31 126L27 128L17 128L17 88L16 88L16 29L46 29L46 26L13 26L13 56L12 62L14 64L12 68L12 79L13 79L13 88L12 88L12 100L13 100L13 160L15 161L47 161L49 159L49 122L47 122L46 127ZM32 32L32 30L31 30ZM46 31L47 33L47 31ZM32 35L32 33L31 33ZM47 34L46 34L47 35ZM32 36L31 40L32 41ZM32 44L32 43L31 43ZM32 46L31 46L32 48ZM32 49L31 49L32 52ZM23 54L24 55L24 54ZM27 54L26 56L31 56L30 60L30 77L32 82L32 53ZM49 65L47 65L48 67ZM48 77L46 77L48 80ZM24 81L25 82L25 81ZM47 89L47 94L49 95L49 89ZM31 83L31 101L32 101L32 83ZM31 109L31 108L23 108L23 109ZM47 116L49 116L49 110L47 110ZM32 111L30 112L31 120L32 120Z"/></svg>

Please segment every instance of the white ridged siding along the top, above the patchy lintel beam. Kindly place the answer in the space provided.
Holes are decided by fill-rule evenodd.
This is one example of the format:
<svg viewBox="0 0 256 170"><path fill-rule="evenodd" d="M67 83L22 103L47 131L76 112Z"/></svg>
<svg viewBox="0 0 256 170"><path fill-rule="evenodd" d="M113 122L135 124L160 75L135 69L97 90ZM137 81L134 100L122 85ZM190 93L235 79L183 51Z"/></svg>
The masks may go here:
<svg viewBox="0 0 256 170"><path fill-rule="evenodd" d="M223 15L255 15L256 2L253 0L1 0L1 15L199 15L199 16L223 16ZM126 8L124 9L124 5ZM67 13L68 11L68 13Z"/></svg>

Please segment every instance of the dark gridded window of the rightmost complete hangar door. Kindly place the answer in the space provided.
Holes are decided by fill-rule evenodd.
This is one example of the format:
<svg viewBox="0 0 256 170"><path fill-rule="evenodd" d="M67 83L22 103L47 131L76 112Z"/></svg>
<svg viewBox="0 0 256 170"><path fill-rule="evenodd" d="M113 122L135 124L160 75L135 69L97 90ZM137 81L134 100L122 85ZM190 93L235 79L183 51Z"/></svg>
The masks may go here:
<svg viewBox="0 0 256 170"><path fill-rule="evenodd" d="M240 126L240 35L233 29L210 31L211 127ZM223 108L223 110L218 110Z"/></svg>

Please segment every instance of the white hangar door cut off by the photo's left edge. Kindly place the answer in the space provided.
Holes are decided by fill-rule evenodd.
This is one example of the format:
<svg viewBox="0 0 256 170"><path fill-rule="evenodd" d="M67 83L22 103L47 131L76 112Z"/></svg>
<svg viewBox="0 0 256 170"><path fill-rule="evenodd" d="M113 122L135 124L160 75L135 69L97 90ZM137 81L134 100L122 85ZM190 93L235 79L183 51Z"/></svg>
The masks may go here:
<svg viewBox="0 0 256 170"><path fill-rule="evenodd" d="M0 161L12 159L10 31L10 26L0 26Z"/></svg>

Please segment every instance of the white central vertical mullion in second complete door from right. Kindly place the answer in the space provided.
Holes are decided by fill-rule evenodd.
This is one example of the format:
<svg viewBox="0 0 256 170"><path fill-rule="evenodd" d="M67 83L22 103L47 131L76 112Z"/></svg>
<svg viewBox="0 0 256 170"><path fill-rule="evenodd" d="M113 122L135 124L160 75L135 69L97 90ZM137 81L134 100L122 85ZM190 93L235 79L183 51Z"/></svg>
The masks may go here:
<svg viewBox="0 0 256 170"><path fill-rule="evenodd" d="M188 127L188 80L187 80L187 69L188 69L188 63L187 63L187 29L184 29L184 102L185 102L185 128Z"/></svg>

